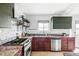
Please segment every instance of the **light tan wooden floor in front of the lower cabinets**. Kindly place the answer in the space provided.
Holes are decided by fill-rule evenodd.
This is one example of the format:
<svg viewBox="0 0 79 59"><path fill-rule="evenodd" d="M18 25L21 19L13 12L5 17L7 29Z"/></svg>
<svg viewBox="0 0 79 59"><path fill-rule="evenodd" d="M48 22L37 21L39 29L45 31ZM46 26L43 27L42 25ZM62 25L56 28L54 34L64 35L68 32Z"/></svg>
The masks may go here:
<svg viewBox="0 0 79 59"><path fill-rule="evenodd" d="M32 56L63 56L66 52L32 51Z"/></svg>

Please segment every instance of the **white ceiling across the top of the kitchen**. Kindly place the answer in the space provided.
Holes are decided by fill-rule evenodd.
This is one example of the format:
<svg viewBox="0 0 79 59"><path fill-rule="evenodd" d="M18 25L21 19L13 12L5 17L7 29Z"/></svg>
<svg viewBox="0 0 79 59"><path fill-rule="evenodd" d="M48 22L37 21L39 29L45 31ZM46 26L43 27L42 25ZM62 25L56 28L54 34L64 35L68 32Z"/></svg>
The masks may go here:
<svg viewBox="0 0 79 59"><path fill-rule="evenodd" d="M16 3L16 14L79 14L79 4L67 3Z"/></svg>

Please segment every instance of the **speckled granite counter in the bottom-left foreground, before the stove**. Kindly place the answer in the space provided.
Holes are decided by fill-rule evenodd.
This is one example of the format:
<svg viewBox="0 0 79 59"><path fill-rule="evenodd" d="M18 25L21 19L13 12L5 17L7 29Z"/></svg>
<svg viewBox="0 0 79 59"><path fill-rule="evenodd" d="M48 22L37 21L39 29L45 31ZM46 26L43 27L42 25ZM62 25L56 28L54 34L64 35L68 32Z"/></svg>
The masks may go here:
<svg viewBox="0 0 79 59"><path fill-rule="evenodd" d="M18 56L22 46L0 46L0 56Z"/></svg>

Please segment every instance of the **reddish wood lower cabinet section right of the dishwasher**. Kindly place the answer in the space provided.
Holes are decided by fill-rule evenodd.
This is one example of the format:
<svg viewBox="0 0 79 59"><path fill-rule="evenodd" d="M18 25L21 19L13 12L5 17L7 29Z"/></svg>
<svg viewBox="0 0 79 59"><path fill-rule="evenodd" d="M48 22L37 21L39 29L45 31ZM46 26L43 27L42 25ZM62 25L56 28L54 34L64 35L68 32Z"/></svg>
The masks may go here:
<svg viewBox="0 0 79 59"><path fill-rule="evenodd" d="M62 51L73 51L75 48L74 37L62 37L61 38L61 50Z"/></svg>

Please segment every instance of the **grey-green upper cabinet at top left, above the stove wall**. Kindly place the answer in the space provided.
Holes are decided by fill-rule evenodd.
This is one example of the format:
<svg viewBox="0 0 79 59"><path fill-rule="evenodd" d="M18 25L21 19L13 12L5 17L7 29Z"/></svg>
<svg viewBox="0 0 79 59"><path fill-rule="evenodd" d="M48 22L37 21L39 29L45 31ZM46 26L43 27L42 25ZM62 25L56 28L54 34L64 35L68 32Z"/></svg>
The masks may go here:
<svg viewBox="0 0 79 59"><path fill-rule="evenodd" d="M11 27L13 4L0 3L0 28Z"/></svg>

